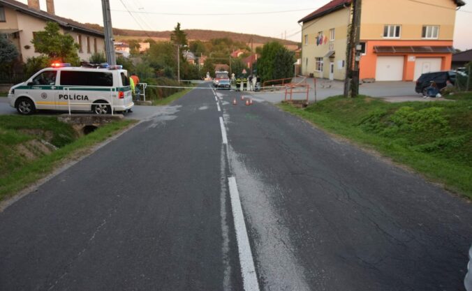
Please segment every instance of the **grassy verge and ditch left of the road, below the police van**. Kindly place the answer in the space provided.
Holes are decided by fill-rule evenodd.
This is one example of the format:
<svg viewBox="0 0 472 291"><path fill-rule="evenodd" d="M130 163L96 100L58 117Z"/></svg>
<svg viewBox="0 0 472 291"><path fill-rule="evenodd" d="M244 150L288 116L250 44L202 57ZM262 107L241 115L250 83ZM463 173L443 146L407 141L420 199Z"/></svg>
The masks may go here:
<svg viewBox="0 0 472 291"><path fill-rule="evenodd" d="M135 121L116 121L93 133L77 137L68 124L56 117L0 116L0 201L46 177L67 158L86 154ZM38 140L47 140L58 149L45 152ZM36 141L35 144L31 142ZM24 150L27 149L25 154Z"/></svg>

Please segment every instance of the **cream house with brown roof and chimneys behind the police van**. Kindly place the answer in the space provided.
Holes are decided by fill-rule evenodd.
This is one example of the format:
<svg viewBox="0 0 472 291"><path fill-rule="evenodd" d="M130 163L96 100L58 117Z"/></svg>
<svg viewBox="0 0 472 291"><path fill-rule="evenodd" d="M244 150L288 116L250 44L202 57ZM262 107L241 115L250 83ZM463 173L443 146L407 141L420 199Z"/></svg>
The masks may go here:
<svg viewBox="0 0 472 291"><path fill-rule="evenodd" d="M69 34L78 43L79 57L88 61L95 52L105 51L103 31L90 29L84 24L55 15L54 0L47 0L47 11L40 10L39 0L28 0L28 5L14 0L0 0L0 33L6 34L26 62L40 54L31 43L34 33L42 31L47 22L56 22L61 32Z"/></svg>

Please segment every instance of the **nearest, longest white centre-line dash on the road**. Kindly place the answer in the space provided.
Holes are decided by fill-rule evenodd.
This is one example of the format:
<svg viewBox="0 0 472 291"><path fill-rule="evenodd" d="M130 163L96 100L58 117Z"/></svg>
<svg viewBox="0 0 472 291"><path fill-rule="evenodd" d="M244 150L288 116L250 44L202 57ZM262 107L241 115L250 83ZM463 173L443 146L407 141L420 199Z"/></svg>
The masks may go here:
<svg viewBox="0 0 472 291"><path fill-rule="evenodd" d="M221 117L220 121L223 122ZM231 209L233 209L233 220L235 223L244 291L259 291L256 268L254 267L251 245L249 244L249 237L247 236L246 223L244 223L244 215L242 213L241 200L239 200L235 177L228 178L228 185L230 186Z"/></svg>

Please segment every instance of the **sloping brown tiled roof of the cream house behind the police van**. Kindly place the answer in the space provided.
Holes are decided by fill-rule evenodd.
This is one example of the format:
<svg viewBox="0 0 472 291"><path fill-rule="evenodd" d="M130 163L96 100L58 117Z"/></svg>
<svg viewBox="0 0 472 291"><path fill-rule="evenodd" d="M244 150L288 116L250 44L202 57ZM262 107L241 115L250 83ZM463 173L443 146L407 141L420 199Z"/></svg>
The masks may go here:
<svg viewBox="0 0 472 291"><path fill-rule="evenodd" d="M76 22L74 20L70 20L68 18L60 17L54 14L47 13L43 10L37 10L34 8L30 8L24 3L15 0L0 0L0 4L3 4L6 7L13 8L15 10L19 10L22 13L26 13L28 15L32 15L34 17L42 18L47 21L54 21L57 22L61 27L79 30L87 33L94 34L96 36L105 36L103 31L98 31L96 29L91 29L87 27L87 25L82 24L80 22Z"/></svg>

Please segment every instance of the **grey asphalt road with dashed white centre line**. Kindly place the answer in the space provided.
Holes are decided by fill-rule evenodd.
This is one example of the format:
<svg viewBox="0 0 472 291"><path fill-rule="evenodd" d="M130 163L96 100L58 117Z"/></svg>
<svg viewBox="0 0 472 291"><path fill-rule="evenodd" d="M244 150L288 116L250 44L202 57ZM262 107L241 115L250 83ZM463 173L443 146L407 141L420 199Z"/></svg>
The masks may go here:
<svg viewBox="0 0 472 291"><path fill-rule="evenodd" d="M471 204L240 96L195 89L0 213L0 290L462 290Z"/></svg>

